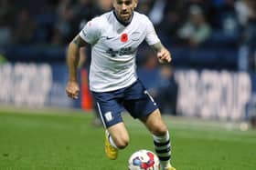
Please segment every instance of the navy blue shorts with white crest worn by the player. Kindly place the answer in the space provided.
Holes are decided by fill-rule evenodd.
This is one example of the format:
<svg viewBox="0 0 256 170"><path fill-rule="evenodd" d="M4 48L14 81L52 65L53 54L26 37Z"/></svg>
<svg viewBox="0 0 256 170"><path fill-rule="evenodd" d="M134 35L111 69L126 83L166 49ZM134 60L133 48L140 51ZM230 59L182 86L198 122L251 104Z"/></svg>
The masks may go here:
<svg viewBox="0 0 256 170"><path fill-rule="evenodd" d="M106 128L123 122L125 109L133 118L150 115L157 105L144 85L137 80L133 85L112 92L92 92L97 102L101 120Z"/></svg>

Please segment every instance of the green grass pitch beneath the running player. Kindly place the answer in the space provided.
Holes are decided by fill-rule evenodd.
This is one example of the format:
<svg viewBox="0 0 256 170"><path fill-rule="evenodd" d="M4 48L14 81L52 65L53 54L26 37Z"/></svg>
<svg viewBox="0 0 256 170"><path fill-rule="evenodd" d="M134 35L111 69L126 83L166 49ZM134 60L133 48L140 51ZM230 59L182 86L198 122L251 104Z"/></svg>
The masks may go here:
<svg viewBox="0 0 256 170"><path fill-rule="evenodd" d="M239 125L164 116L177 170L255 170L256 131ZM103 129L78 110L0 107L0 170L127 170L139 149L154 151L144 125L123 115L131 143L115 161L103 150Z"/></svg>

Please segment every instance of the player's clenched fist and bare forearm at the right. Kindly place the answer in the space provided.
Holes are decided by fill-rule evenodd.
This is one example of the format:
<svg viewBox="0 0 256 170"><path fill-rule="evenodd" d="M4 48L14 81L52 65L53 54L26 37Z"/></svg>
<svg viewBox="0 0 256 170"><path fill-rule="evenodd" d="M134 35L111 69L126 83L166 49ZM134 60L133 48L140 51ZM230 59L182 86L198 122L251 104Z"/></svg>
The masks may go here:
<svg viewBox="0 0 256 170"><path fill-rule="evenodd" d="M172 56L169 50L167 50L161 42L151 45L151 47L155 50L160 63L170 63L172 61Z"/></svg>

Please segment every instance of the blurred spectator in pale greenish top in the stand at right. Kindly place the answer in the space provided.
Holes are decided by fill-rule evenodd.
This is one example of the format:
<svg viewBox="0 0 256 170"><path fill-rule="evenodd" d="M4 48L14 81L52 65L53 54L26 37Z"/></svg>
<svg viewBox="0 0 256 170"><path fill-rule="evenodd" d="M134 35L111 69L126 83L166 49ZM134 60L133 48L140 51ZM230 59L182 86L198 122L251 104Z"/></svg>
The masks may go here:
<svg viewBox="0 0 256 170"><path fill-rule="evenodd" d="M178 38L191 47L202 45L211 35L211 28L202 8L198 5L191 5L187 22L177 31Z"/></svg>

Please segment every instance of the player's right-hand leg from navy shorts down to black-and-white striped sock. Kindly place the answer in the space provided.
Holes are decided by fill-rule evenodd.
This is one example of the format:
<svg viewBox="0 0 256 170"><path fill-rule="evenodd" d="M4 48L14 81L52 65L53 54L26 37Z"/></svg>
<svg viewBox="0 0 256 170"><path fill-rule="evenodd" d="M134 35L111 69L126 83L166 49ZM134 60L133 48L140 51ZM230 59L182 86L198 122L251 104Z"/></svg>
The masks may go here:
<svg viewBox="0 0 256 170"><path fill-rule="evenodd" d="M123 105L126 110L134 118L140 118L153 134L155 151L162 167L166 167L166 170L175 170L170 165L171 145L169 133L153 97L149 95L139 80L125 90L125 96Z"/></svg>

